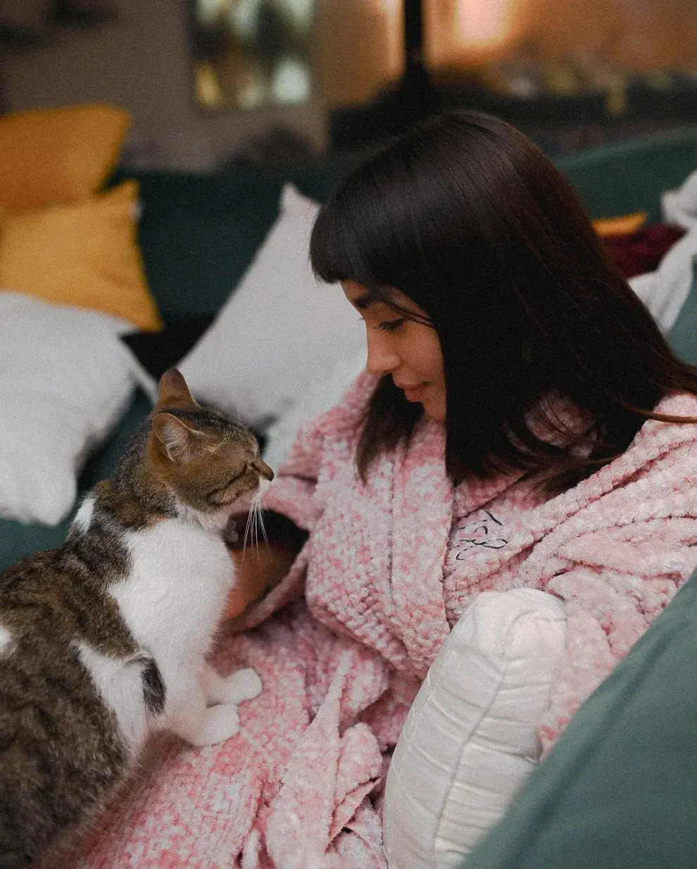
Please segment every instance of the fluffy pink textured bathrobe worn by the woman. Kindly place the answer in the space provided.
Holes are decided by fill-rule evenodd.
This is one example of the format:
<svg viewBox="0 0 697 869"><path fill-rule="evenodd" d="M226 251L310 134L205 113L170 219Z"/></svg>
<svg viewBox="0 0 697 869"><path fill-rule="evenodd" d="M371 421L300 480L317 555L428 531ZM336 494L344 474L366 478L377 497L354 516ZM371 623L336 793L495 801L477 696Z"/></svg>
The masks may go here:
<svg viewBox="0 0 697 869"><path fill-rule="evenodd" d="M281 585L222 640L222 670L256 667L242 733L166 744L85 847L83 866L384 867L376 808L408 706L481 591L558 595L568 650L541 727L554 743L697 565L697 426L647 421L627 452L551 500L519 477L454 491L441 426L353 461L375 381L309 424L266 506L311 531ZM697 400L668 396L668 414Z"/></svg>

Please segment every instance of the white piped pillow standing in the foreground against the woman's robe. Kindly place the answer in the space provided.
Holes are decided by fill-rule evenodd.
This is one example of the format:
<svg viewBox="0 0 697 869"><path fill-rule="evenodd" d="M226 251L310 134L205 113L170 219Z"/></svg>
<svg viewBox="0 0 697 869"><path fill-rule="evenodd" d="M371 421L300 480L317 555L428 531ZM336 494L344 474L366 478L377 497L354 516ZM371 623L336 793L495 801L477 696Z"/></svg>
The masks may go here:
<svg viewBox="0 0 697 869"><path fill-rule="evenodd" d="M390 869L461 866L540 756L564 650L564 605L532 588L480 594L428 671L385 790Z"/></svg>

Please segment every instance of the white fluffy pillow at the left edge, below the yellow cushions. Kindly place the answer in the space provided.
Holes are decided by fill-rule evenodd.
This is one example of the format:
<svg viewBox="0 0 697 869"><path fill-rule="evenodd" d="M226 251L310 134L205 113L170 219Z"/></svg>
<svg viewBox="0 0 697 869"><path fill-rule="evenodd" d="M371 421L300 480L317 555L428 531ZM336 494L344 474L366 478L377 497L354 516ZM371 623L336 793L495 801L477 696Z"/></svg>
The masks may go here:
<svg viewBox="0 0 697 869"><path fill-rule="evenodd" d="M135 381L114 317L0 292L0 516L57 525Z"/></svg>

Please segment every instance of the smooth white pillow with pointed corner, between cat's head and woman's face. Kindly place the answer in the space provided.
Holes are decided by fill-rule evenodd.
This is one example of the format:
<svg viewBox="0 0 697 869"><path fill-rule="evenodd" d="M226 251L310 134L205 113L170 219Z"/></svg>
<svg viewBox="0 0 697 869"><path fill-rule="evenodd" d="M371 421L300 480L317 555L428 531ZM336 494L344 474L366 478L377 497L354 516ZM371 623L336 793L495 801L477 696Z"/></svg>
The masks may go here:
<svg viewBox="0 0 697 869"><path fill-rule="evenodd" d="M281 214L242 283L178 368L193 395L263 430L364 343L341 288L309 264L318 206L290 184Z"/></svg>

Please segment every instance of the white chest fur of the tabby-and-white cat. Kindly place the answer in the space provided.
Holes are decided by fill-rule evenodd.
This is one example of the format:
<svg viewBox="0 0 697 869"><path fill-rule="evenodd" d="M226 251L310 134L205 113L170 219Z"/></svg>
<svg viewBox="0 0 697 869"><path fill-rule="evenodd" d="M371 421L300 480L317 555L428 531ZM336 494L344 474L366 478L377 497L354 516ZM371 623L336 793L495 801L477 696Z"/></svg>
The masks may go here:
<svg viewBox="0 0 697 869"><path fill-rule="evenodd" d="M194 522L168 519L126 537L131 569L110 593L138 645L157 662L165 686L196 667L234 584L222 539Z"/></svg>

